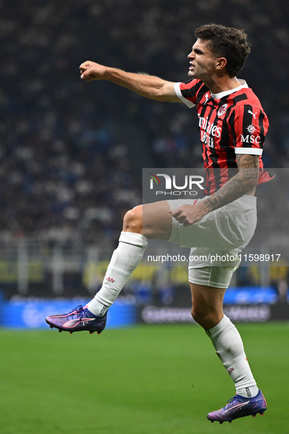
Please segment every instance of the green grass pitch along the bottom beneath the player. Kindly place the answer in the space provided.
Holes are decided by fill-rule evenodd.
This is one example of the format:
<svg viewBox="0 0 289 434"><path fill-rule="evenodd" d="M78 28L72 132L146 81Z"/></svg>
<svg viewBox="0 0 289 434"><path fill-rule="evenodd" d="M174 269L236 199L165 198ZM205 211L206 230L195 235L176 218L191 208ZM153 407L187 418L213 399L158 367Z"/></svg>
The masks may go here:
<svg viewBox="0 0 289 434"><path fill-rule="evenodd" d="M239 324L264 416L206 414L234 384L197 325L0 330L1 434L288 434L289 323Z"/></svg>

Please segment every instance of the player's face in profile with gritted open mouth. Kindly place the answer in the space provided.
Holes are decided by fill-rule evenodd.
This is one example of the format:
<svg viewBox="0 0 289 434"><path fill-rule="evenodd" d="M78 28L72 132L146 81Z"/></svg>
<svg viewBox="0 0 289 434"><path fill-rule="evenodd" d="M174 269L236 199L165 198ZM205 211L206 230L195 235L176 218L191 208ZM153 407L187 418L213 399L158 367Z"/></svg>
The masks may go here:
<svg viewBox="0 0 289 434"><path fill-rule="evenodd" d="M190 68L188 76L203 81L212 77L216 71L217 59L213 58L211 50L200 39L194 44L192 52L188 55Z"/></svg>

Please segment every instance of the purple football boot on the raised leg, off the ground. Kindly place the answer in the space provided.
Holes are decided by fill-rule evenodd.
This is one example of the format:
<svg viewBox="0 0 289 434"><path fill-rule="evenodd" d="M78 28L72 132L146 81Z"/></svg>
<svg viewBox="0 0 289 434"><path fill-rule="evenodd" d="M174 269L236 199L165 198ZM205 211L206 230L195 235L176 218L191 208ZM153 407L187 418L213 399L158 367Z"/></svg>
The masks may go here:
<svg viewBox="0 0 289 434"><path fill-rule="evenodd" d="M78 306L71 312L52 315L46 317L47 324L50 329L55 327L62 332L82 332L88 330L90 334L97 332L99 335L105 328L107 322L107 312L103 316L96 316L91 313L85 306Z"/></svg>

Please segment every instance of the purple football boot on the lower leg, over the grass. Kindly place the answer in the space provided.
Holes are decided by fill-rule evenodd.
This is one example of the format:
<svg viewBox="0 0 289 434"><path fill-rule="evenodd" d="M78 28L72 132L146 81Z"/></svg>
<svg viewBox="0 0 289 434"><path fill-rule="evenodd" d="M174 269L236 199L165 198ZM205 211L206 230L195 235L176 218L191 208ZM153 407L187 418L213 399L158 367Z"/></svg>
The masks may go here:
<svg viewBox="0 0 289 434"><path fill-rule="evenodd" d="M263 393L259 390L256 396L252 398L245 398L241 395L236 395L228 401L228 404L220 410L212 411L207 415L207 418L214 422L232 422L239 417L256 416L257 413L261 415L267 409L266 400Z"/></svg>

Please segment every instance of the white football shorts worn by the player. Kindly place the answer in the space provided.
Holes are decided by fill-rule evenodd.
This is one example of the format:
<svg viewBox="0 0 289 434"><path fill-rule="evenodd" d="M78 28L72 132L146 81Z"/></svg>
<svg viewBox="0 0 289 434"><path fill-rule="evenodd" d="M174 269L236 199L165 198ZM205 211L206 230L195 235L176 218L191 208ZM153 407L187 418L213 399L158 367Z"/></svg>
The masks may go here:
<svg viewBox="0 0 289 434"><path fill-rule="evenodd" d="M170 209L180 207L183 204L196 205L195 199L168 200ZM172 234L170 242L175 242L182 247L191 247L189 258L189 270L200 267L225 267L226 274L232 273L240 265L239 253L251 240L257 224L256 197L244 195L233 202L211 211L200 219L200 221L189 226L183 226L173 217ZM198 277L194 277L189 271L189 281L198 283ZM208 273L208 270L207 270ZM201 273L203 275L203 273ZM210 271L206 280L216 280L219 272ZM230 280L229 279L229 280ZM226 279L227 281L228 279ZM202 279L203 281L203 279ZM200 285L217 286L218 282L211 282L212 285L200 283ZM215 283L215 285L213 285ZM221 282L223 285L224 282ZM229 284L229 282L228 282ZM224 288L224 286L219 286Z"/></svg>

